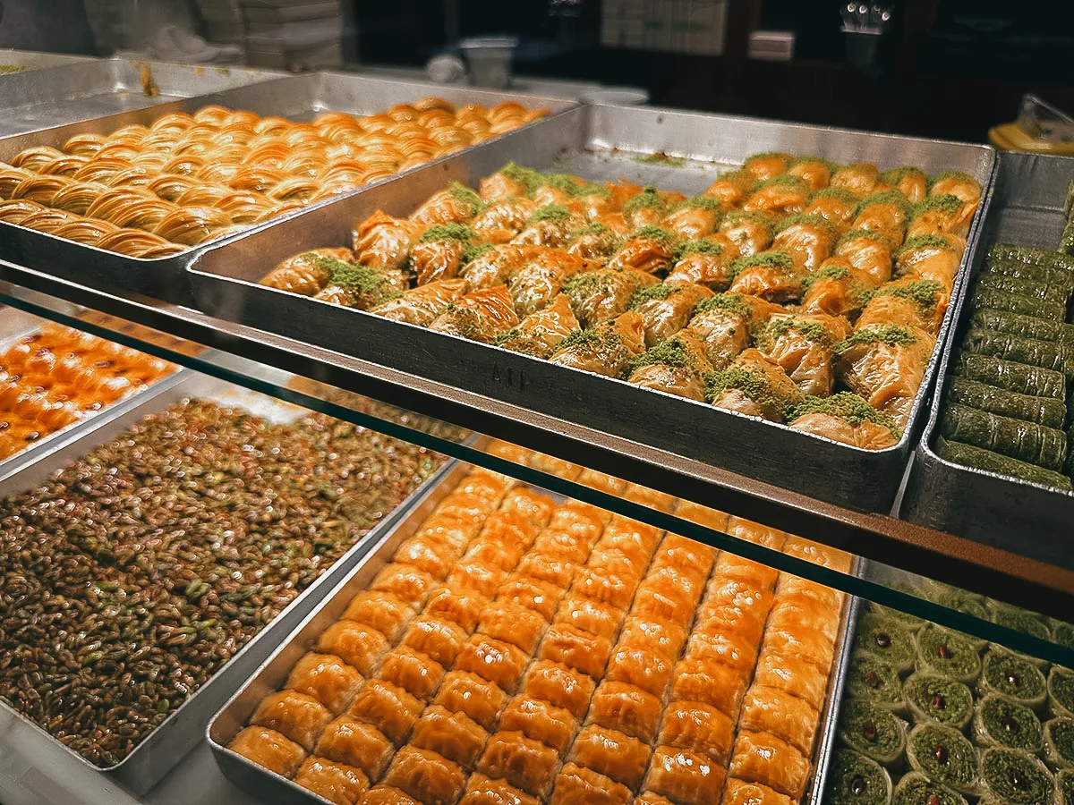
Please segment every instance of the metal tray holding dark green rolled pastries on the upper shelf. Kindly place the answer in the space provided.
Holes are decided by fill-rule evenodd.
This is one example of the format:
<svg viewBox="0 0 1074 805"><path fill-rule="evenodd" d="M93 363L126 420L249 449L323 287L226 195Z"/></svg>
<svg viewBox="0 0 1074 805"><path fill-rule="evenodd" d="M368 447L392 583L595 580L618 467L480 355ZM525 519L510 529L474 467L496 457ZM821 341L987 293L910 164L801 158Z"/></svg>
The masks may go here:
<svg viewBox="0 0 1074 805"><path fill-rule="evenodd" d="M1001 152L993 199L971 270L975 276L993 243L1058 249L1066 186L1074 159ZM955 305L958 325L940 365L925 436L917 445L901 515L914 523L1074 569L1070 550L1074 492L1062 492L995 472L962 467L932 451L955 358L972 313L966 293ZM1069 390L1068 390L1069 391ZM1032 535L1032 539L1026 539Z"/></svg>

